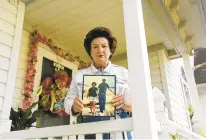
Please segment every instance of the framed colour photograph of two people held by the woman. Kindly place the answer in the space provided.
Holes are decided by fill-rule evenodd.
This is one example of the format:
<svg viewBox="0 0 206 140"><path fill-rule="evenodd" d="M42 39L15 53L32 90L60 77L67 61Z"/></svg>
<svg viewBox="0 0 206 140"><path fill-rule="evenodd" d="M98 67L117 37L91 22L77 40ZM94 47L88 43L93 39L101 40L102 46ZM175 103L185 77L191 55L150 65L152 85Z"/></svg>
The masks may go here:
<svg viewBox="0 0 206 140"><path fill-rule="evenodd" d="M82 116L115 117L112 98L116 94L115 75L84 75Z"/></svg>

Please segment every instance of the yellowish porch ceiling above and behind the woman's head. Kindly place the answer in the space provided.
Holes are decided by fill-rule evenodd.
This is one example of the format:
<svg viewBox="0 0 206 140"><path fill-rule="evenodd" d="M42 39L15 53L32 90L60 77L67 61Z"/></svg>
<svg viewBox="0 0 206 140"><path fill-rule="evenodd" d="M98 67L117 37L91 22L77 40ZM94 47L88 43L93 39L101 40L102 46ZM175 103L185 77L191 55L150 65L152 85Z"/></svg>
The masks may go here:
<svg viewBox="0 0 206 140"><path fill-rule="evenodd" d="M146 1L143 1L143 12L147 45L168 44L162 26L155 21L152 11L148 12ZM126 53L122 0L31 0L26 5L25 24L63 43L64 50L70 49L85 61L90 60L82 49L86 33L96 26L105 26L118 40L114 57ZM169 44L167 49L173 49L172 43Z"/></svg>

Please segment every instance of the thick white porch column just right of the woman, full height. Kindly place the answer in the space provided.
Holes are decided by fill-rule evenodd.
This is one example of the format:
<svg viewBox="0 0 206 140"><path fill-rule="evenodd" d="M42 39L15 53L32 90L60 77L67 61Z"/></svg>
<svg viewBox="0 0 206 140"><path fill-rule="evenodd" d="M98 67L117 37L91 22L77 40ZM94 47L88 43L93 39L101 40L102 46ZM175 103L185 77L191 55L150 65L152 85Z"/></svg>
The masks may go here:
<svg viewBox="0 0 206 140"><path fill-rule="evenodd" d="M141 0L123 0L134 139L158 139Z"/></svg>

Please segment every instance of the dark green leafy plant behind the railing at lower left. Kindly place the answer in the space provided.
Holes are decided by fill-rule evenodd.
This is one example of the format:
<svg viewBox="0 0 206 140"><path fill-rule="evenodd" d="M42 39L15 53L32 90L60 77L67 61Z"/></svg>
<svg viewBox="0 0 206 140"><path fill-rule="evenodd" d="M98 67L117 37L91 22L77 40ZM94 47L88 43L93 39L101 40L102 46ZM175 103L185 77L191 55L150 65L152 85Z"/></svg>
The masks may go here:
<svg viewBox="0 0 206 140"><path fill-rule="evenodd" d="M37 117L40 117L43 114L43 109L36 110L32 112L32 109L38 104L34 102L28 109L23 111L21 108L18 108L17 111L14 111L11 108L10 120L12 120L11 131L24 130L26 128L32 127L32 124L36 122Z"/></svg>

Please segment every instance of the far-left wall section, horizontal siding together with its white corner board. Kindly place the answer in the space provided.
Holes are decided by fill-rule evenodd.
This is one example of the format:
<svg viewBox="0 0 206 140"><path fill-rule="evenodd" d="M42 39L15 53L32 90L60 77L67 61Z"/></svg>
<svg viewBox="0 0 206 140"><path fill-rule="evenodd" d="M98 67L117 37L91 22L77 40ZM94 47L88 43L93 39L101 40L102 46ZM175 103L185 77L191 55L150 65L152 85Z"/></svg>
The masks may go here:
<svg viewBox="0 0 206 140"><path fill-rule="evenodd" d="M0 0L0 133L10 131L13 100L25 4L19 0ZM5 55L7 54L7 55ZM4 66L6 65L6 66ZM3 89L3 90L2 90Z"/></svg>

